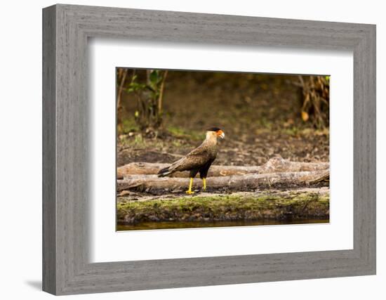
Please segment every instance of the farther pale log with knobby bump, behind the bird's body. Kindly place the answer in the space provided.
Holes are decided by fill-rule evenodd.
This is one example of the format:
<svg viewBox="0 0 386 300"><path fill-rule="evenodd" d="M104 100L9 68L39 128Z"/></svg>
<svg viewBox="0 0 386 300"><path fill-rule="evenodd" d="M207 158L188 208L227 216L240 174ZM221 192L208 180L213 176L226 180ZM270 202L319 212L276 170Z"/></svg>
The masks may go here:
<svg viewBox="0 0 386 300"><path fill-rule="evenodd" d="M117 169L117 178L124 179L131 175L151 175L157 174L160 169L168 167L170 164L132 162ZM272 157L265 164L254 167L244 166L212 166L209 169L209 177L232 176L245 174L266 174L277 172L299 172L299 171L319 171L329 168L328 162L291 162L283 157ZM172 177L189 177L189 172L175 172Z"/></svg>

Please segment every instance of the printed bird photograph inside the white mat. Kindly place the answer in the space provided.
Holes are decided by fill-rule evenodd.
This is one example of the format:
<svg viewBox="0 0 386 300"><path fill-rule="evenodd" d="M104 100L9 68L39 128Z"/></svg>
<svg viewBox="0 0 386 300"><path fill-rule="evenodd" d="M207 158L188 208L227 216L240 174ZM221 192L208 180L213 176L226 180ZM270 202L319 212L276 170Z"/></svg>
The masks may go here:
<svg viewBox="0 0 386 300"><path fill-rule="evenodd" d="M329 222L328 75L115 80L117 230Z"/></svg>

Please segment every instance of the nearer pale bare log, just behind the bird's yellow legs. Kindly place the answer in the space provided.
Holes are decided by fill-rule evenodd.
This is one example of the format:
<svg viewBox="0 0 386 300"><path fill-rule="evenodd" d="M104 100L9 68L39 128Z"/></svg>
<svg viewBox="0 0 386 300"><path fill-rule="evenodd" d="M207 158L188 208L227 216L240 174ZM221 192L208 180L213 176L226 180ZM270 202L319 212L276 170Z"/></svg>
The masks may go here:
<svg viewBox="0 0 386 300"><path fill-rule="evenodd" d="M206 178L206 185L211 189L228 188L232 190L250 190L255 188L271 188L275 186L308 185L310 182L326 178L328 170L278 172L266 174L246 174L234 176L218 176ZM186 178L159 178L157 175L132 175L117 181L117 191L122 190L168 190L181 191L187 188ZM194 181L194 188L201 188L201 180Z"/></svg>

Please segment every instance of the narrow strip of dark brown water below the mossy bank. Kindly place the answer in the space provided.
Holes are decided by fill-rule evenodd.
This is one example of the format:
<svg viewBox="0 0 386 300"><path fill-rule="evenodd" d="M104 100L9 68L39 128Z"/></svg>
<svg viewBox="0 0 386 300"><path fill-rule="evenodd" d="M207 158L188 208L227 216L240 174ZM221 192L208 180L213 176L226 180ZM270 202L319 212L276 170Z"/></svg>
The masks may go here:
<svg viewBox="0 0 386 300"><path fill-rule="evenodd" d="M239 220L239 221L163 221L142 222L131 225L118 224L117 231L126 230L151 230L151 229L180 229L180 228L208 228L229 226L267 226L267 225L292 225L310 223L328 223L328 219L296 219L296 220Z"/></svg>

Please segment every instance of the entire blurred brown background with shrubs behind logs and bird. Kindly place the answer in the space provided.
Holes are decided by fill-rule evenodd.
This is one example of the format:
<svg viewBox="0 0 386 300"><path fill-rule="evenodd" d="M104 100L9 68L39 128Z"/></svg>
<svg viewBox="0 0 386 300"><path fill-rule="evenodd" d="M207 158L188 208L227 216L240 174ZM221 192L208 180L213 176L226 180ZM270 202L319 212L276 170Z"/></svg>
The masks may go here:
<svg viewBox="0 0 386 300"><path fill-rule="evenodd" d="M218 164L274 154L328 161L329 84L328 76L117 68L118 164L173 162L209 126L226 134Z"/></svg>

